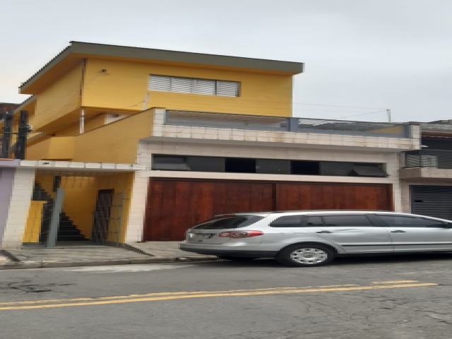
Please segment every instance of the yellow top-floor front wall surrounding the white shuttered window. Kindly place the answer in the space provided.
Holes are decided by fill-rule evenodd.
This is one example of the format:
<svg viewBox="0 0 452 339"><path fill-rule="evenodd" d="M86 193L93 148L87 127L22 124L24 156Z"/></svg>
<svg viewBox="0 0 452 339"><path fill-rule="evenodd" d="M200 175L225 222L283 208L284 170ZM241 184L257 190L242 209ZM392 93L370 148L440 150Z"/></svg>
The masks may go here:
<svg viewBox="0 0 452 339"><path fill-rule="evenodd" d="M106 73L100 70L106 69ZM291 116L292 76L88 59L83 107L141 110L149 74L240 82L240 97L150 91L148 107Z"/></svg>

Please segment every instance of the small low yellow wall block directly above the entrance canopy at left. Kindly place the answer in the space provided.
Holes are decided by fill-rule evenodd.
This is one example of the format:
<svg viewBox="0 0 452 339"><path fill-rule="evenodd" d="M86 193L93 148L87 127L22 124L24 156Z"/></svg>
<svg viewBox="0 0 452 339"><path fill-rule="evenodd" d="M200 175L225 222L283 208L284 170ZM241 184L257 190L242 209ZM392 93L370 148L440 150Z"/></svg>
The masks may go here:
<svg viewBox="0 0 452 339"><path fill-rule="evenodd" d="M57 136L27 147L27 160L71 160L74 137Z"/></svg>

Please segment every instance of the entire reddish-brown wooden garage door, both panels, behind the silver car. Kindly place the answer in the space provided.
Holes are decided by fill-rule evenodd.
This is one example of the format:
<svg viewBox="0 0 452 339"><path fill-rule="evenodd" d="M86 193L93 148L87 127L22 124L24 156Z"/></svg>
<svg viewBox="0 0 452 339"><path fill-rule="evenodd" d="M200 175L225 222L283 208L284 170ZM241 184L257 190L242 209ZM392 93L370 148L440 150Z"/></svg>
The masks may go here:
<svg viewBox="0 0 452 339"><path fill-rule="evenodd" d="M388 185L152 179L144 240L182 240L187 228L216 214L317 209L391 210L390 189Z"/></svg>

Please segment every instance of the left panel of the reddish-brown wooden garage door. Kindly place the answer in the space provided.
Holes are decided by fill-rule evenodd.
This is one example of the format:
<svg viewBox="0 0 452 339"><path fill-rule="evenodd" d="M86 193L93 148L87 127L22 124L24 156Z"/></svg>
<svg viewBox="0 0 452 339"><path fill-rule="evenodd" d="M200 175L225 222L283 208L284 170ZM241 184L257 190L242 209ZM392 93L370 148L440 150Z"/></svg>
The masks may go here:
<svg viewBox="0 0 452 339"><path fill-rule="evenodd" d="M187 228L213 215L263 210L273 210L273 184L152 179L144 240L182 240Z"/></svg>

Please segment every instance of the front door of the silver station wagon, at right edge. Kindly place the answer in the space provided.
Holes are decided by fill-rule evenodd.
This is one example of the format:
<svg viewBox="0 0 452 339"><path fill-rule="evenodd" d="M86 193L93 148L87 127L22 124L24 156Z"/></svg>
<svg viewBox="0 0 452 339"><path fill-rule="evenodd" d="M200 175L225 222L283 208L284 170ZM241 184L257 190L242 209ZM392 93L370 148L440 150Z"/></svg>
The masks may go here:
<svg viewBox="0 0 452 339"><path fill-rule="evenodd" d="M390 232L396 252L452 250L452 228L445 220L415 215L376 216Z"/></svg>

